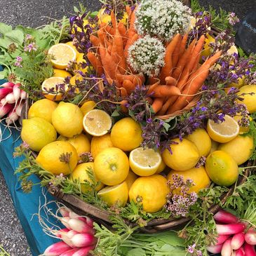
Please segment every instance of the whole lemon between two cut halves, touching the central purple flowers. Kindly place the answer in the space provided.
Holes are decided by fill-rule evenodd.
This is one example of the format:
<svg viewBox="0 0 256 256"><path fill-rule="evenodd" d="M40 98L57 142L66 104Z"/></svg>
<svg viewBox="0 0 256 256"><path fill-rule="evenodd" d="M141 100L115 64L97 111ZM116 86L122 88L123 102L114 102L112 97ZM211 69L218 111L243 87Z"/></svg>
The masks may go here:
<svg viewBox="0 0 256 256"><path fill-rule="evenodd" d="M114 147L123 151L131 151L140 147L143 140L140 124L131 117L117 121L112 127L110 135Z"/></svg>

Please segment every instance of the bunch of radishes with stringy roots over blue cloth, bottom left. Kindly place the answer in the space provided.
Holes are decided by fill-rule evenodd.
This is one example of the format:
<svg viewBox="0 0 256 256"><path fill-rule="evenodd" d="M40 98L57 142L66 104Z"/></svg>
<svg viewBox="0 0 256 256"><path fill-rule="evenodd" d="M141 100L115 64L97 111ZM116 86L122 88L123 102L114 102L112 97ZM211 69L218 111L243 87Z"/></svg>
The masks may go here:
<svg viewBox="0 0 256 256"><path fill-rule="evenodd" d="M95 248L97 239L93 236L93 220L81 217L66 207L59 208L62 217L58 219L65 229L51 231L56 237L62 239L50 245L43 252L44 256L86 256Z"/></svg>

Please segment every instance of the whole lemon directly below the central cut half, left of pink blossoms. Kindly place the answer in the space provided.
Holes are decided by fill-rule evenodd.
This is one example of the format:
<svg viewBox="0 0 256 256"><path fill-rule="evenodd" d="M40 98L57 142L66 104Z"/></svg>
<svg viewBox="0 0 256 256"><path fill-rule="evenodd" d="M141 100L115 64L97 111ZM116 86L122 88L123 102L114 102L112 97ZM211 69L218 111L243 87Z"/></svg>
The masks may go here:
<svg viewBox="0 0 256 256"><path fill-rule="evenodd" d="M130 187L130 201L141 203L147 213L156 213L166 204L170 192L167 180L161 175L138 177Z"/></svg>

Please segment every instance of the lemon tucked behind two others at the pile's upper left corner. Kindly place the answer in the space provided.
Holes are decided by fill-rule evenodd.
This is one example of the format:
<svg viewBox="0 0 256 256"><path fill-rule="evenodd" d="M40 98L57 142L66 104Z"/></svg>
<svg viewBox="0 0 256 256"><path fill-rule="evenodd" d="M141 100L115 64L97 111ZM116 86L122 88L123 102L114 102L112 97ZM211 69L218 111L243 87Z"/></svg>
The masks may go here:
<svg viewBox="0 0 256 256"><path fill-rule="evenodd" d="M45 119L51 123L52 114L56 107L58 107L58 104L52 100L37 100L31 105L31 107L29 107L28 118L32 119L33 117L41 117L41 119Z"/></svg>

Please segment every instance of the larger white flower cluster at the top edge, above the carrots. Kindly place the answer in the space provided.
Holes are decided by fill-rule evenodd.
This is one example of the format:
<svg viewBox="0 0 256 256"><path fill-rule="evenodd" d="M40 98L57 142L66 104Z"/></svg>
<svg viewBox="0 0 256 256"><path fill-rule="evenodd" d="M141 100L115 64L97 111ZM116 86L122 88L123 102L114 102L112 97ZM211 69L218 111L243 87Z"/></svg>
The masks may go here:
<svg viewBox="0 0 256 256"><path fill-rule="evenodd" d="M177 33L189 29L191 10L177 0L142 0L136 11L135 28L140 35L149 34L170 41Z"/></svg>

